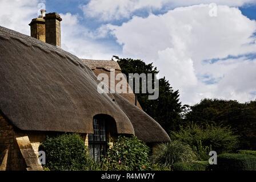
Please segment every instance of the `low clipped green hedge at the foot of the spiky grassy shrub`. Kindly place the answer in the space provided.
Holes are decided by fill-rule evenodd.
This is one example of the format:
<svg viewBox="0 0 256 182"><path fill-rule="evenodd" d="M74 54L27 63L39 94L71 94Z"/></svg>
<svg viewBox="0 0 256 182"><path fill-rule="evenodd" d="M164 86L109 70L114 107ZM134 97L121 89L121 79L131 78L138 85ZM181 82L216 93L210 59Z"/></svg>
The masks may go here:
<svg viewBox="0 0 256 182"><path fill-rule="evenodd" d="M207 171L209 169L209 162L195 161L190 163L175 163L171 168L173 171Z"/></svg>

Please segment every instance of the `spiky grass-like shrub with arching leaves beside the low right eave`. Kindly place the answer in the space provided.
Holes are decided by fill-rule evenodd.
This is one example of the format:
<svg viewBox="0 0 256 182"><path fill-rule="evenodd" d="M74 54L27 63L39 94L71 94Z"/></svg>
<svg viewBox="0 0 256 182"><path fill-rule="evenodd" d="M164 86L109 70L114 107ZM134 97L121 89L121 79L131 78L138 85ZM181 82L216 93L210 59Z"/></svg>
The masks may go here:
<svg viewBox="0 0 256 182"><path fill-rule="evenodd" d="M179 141L159 144L153 156L154 163L162 164L166 167L178 162L191 162L195 159L197 159L197 156L191 147Z"/></svg>

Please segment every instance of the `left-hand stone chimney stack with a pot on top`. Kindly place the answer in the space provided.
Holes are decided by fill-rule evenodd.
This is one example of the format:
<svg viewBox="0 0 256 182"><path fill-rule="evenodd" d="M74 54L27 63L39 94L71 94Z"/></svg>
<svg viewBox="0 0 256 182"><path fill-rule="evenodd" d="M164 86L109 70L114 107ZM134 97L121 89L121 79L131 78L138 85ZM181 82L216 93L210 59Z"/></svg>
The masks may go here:
<svg viewBox="0 0 256 182"><path fill-rule="evenodd" d="M30 36L41 40L42 42L46 42L45 40L45 16L46 10L41 10L41 15L38 18L34 18L31 20L30 26Z"/></svg>

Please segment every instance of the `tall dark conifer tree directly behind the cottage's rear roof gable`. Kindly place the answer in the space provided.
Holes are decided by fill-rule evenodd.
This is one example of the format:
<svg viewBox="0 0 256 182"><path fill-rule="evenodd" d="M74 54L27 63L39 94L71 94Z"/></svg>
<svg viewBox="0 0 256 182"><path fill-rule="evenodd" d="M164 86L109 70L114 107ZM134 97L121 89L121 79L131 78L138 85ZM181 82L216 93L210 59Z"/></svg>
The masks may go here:
<svg viewBox="0 0 256 182"><path fill-rule="evenodd" d="M118 64L122 69L122 73L126 76L129 73L158 73L153 63L146 64L142 60L119 59ZM140 83L140 88L141 88ZM169 133L169 131L177 129L181 122L181 113L183 106L179 101L178 90L171 88L169 81L165 77L159 79L159 98L157 100L148 100L148 93L138 93L138 101L142 109L155 119Z"/></svg>

